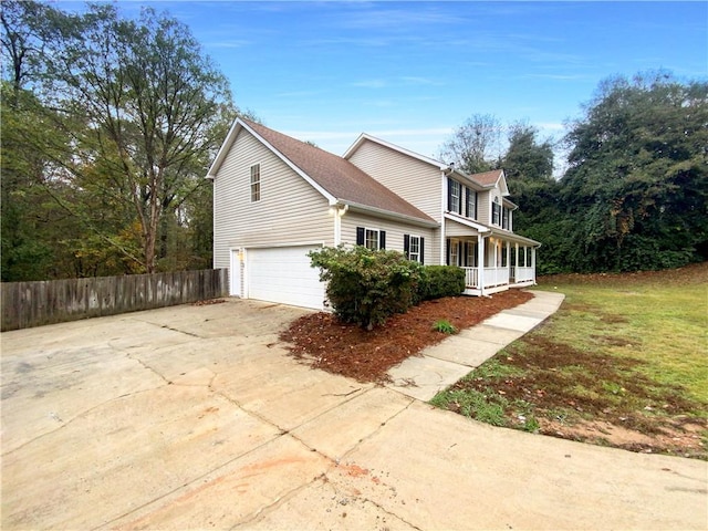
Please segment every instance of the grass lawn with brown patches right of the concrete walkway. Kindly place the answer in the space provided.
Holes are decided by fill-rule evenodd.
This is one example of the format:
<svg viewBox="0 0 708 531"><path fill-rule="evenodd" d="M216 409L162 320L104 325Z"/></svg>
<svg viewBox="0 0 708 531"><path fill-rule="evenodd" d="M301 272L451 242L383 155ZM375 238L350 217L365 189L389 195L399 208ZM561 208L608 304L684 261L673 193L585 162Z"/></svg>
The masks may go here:
<svg viewBox="0 0 708 531"><path fill-rule="evenodd" d="M681 455L708 458L708 262L539 284L565 294L561 309L431 403L528 431L602 421L642 435L631 449L648 451L650 437L653 451L688 445ZM632 446L612 434L572 438Z"/></svg>

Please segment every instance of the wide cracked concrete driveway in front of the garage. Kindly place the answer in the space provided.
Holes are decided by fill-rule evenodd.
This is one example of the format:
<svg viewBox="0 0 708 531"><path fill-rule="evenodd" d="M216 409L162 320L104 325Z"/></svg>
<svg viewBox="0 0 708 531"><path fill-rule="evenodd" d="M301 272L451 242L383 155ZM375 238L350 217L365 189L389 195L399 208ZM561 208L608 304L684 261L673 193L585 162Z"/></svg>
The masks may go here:
<svg viewBox="0 0 708 531"><path fill-rule="evenodd" d="M228 300L7 332L14 529L706 529L708 464L492 428L312 371Z"/></svg>

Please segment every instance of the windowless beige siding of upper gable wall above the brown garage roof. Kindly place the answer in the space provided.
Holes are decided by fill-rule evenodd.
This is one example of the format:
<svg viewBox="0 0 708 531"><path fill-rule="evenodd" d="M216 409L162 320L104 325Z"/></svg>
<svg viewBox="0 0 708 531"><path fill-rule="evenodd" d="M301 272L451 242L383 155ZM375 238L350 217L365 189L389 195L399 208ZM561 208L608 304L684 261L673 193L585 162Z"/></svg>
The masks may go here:
<svg viewBox="0 0 708 531"><path fill-rule="evenodd" d="M440 221L442 179L439 168L371 140L364 140L350 162Z"/></svg>

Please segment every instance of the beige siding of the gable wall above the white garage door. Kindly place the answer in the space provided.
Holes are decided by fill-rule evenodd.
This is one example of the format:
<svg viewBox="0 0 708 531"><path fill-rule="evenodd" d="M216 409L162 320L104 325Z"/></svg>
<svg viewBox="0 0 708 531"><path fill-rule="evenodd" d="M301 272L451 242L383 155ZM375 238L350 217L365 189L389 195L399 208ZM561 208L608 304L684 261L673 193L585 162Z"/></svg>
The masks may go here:
<svg viewBox="0 0 708 531"><path fill-rule="evenodd" d="M261 200L251 202L250 168L260 164ZM214 266L228 268L230 249L334 243L327 200L242 129L214 179Z"/></svg>

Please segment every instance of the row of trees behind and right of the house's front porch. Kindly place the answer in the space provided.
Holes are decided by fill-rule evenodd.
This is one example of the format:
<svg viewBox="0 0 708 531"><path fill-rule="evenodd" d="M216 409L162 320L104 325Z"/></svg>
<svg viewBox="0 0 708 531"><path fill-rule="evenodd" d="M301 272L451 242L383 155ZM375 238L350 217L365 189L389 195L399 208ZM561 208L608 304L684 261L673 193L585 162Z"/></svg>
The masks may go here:
<svg viewBox="0 0 708 531"><path fill-rule="evenodd" d="M441 148L478 173L502 167L514 231L541 241L538 271L638 271L708 259L708 83L667 72L602 82L568 124L566 169L554 145L523 122L507 129L476 115ZM497 152L496 152L497 149Z"/></svg>

